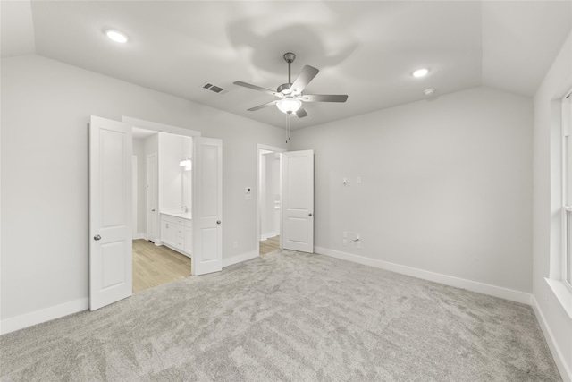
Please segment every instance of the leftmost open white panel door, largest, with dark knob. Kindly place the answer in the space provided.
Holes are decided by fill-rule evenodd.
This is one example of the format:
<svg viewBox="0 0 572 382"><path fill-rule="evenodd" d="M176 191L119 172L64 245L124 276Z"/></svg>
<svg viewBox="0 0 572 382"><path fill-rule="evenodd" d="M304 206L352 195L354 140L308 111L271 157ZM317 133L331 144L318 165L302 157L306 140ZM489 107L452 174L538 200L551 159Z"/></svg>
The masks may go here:
<svg viewBox="0 0 572 382"><path fill-rule="evenodd" d="M89 123L89 310L132 294L131 126Z"/></svg>

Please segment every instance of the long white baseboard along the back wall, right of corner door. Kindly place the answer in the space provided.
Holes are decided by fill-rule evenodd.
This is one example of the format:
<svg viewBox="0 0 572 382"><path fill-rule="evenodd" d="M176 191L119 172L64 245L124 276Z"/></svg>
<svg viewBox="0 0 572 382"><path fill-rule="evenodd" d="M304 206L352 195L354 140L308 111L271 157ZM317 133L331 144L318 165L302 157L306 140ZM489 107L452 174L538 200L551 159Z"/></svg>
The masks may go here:
<svg viewBox="0 0 572 382"><path fill-rule="evenodd" d="M531 295L529 293L518 292L512 289L503 288L501 286L479 283L477 281L471 281L455 276L442 275L440 273L434 273L424 269L402 266L400 264L394 264L378 259L366 258L364 256L341 252L339 250L328 250L321 247L314 247L314 251L315 253L331 256L332 258L336 259L344 259L369 267L378 267L385 270L390 270L391 272L400 273L402 275L413 276L422 278L424 280L433 281L435 283L455 286L457 288L467 289L468 291L476 293L488 294L490 296L500 297L501 299L505 300L517 301L527 305L531 304Z"/></svg>

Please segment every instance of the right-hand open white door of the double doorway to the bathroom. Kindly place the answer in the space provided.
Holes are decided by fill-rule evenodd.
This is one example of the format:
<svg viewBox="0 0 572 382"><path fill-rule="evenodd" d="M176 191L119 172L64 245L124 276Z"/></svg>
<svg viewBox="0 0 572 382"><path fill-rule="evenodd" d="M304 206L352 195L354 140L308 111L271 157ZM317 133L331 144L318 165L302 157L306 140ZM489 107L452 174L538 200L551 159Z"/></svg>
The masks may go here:
<svg viewBox="0 0 572 382"><path fill-rule="evenodd" d="M194 276L223 269L223 141L193 138L193 250Z"/></svg>

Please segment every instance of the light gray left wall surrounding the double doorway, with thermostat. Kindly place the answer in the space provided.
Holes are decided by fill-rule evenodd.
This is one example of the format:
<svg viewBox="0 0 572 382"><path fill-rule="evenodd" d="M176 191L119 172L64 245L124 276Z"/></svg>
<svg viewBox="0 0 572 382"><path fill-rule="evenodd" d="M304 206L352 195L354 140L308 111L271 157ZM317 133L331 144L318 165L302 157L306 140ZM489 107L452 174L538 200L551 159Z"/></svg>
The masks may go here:
<svg viewBox="0 0 572 382"><path fill-rule="evenodd" d="M284 147L282 129L38 55L1 64L3 321L88 306L89 115L222 139L223 260L256 253L256 195L244 188L256 184L257 143Z"/></svg>

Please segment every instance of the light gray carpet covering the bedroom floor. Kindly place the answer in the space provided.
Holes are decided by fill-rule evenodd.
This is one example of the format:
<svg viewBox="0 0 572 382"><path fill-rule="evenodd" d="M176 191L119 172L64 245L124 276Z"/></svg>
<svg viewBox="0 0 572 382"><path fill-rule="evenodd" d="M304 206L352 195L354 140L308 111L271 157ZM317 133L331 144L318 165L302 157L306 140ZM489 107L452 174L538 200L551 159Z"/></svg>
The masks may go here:
<svg viewBox="0 0 572 382"><path fill-rule="evenodd" d="M5 381L561 380L526 305L292 251L0 345Z"/></svg>

